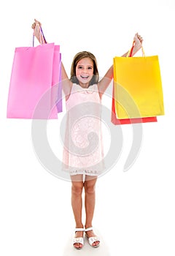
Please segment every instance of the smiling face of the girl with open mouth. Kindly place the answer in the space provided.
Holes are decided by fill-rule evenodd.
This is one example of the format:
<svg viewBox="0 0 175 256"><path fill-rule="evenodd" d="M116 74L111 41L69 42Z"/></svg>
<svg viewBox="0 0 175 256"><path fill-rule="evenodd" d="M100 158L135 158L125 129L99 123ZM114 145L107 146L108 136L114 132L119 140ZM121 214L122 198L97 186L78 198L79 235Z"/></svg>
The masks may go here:
<svg viewBox="0 0 175 256"><path fill-rule="evenodd" d="M77 63L76 77L80 86L89 86L90 80L93 78L93 61L90 58L83 58Z"/></svg>

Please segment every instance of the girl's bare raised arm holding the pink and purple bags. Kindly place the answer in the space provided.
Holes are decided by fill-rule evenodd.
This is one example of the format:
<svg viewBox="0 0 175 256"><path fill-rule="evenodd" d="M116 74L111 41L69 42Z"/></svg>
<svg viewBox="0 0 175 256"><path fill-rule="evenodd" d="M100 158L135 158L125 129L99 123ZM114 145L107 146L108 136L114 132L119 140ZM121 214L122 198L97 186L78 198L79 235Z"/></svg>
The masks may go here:
<svg viewBox="0 0 175 256"><path fill-rule="evenodd" d="M41 43L41 41L44 43L47 43L43 35L41 34L41 29L40 29L41 27L42 27L42 23L40 23L39 20L34 19L34 23L31 26L31 28L34 29L34 36L38 39L39 43ZM63 92L66 96L68 96L71 93L72 83L68 78L66 70L63 67L62 61L61 61L61 82L62 82Z"/></svg>

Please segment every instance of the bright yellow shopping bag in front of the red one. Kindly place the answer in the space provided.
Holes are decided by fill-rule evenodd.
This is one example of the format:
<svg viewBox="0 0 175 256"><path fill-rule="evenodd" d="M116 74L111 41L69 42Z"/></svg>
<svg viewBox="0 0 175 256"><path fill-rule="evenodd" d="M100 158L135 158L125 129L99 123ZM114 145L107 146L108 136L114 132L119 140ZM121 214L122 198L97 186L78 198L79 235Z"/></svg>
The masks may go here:
<svg viewBox="0 0 175 256"><path fill-rule="evenodd" d="M164 115L158 56L114 57L114 98L117 118ZM129 54L129 53L128 53Z"/></svg>

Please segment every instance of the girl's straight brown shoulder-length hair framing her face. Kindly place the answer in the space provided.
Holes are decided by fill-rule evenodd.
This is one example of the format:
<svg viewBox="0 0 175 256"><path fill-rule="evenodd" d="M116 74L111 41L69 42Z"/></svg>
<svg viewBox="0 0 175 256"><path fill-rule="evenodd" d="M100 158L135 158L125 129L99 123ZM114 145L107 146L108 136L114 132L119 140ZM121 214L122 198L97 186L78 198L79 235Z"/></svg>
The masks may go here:
<svg viewBox="0 0 175 256"><path fill-rule="evenodd" d="M74 59L73 59L72 64L71 64L71 78L70 78L70 80L71 80L72 83L79 84L79 80L76 77L76 67L77 67L77 63L81 59L84 59L84 58L90 58L93 61L93 78L90 80L90 86L92 86L93 84L98 83L99 75L98 75L96 57L93 55L93 53L90 53L88 51L79 52L74 56Z"/></svg>

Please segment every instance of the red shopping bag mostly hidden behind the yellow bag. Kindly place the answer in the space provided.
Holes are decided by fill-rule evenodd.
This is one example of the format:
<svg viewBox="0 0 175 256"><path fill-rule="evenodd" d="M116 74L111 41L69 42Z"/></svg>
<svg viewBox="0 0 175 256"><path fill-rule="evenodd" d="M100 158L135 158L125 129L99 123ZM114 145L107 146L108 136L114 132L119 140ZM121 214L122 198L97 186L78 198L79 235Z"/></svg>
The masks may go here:
<svg viewBox="0 0 175 256"><path fill-rule="evenodd" d="M143 118L117 118L117 113L115 111L115 102L114 102L114 85L112 91L112 116L111 116L112 124L120 125L120 124L138 124L138 123L148 123L148 122L157 122L158 119L156 116L143 117Z"/></svg>

